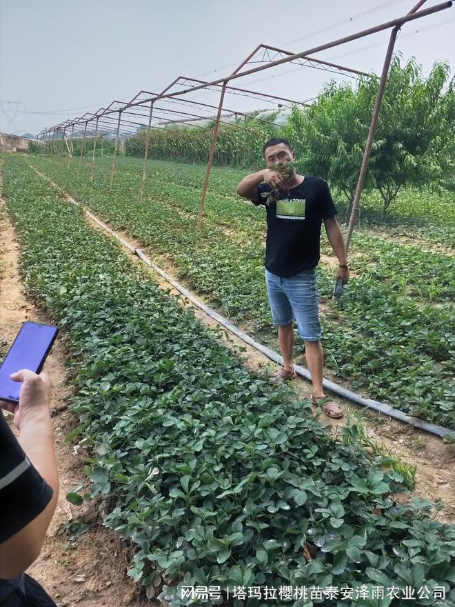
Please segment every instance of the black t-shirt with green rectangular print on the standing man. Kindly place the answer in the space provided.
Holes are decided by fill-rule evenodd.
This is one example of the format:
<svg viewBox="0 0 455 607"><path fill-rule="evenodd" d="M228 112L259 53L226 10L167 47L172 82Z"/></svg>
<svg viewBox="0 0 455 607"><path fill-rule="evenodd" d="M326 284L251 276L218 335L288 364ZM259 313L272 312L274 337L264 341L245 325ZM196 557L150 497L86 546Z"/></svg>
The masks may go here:
<svg viewBox="0 0 455 607"><path fill-rule="evenodd" d="M259 201L254 204L265 205L272 188L261 183L257 191ZM316 268L323 219L337 213L327 183L320 177L305 177L299 186L289 190L287 200L272 202L265 208L265 268L281 277Z"/></svg>

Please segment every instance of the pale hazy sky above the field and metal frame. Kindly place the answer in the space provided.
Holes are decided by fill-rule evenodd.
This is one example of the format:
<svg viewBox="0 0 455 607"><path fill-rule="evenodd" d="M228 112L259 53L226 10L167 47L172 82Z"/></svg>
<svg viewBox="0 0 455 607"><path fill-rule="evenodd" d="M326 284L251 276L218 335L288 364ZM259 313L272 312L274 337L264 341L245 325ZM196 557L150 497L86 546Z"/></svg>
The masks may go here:
<svg viewBox="0 0 455 607"><path fill-rule="evenodd" d="M260 43L303 52L401 17L415 2L0 0L0 132L36 134L114 99L131 99L139 90L162 90L179 75L216 79ZM436 3L429 0L423 8ZM374 34L316 56L378 73L389 35ZM396 50L405 59L414 55L425 73L436 59L449 61L453 71L455 6L405 24ZM331 77L288 63L233 84L303 100L315 97ZM199 92L198 98L217 103L217 96ZM26 110L6 102L19 99ZM225 105L243 111L267 107L245 97Z"/></svg>

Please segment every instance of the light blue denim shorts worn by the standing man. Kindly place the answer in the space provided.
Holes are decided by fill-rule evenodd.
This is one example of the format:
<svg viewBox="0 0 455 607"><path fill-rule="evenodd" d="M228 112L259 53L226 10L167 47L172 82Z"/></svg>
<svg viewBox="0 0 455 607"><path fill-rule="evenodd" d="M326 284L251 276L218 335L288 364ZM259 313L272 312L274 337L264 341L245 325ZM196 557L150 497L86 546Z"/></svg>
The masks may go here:
<svg viewBox="0 0 455 607"><path fill-rule="evenodd" d="M297 321L297 330L305 341L320 341L319 295L316 271L303 270L281 278L265 270L273 324L276 327Z"/></svg>

